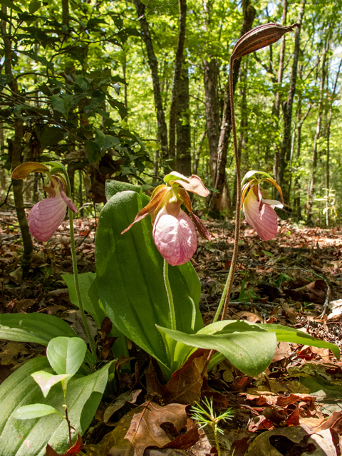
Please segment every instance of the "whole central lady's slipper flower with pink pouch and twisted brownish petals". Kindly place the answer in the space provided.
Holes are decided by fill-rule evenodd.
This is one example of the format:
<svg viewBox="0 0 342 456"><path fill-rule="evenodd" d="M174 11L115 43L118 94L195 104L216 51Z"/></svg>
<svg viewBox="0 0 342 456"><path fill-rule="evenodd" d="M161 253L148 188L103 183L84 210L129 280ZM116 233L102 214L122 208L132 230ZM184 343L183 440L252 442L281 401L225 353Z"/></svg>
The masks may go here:
<svg viewBox="0 0 342 456"><path fill-rule="evenodd" d="M138 212L134 222L123 233L128 231L135 222L140 222L151 214L155 245L167 263L176 266L189 261L197 249L194 224L199 234L204 239L210 240L207 228L191 210L191 201L187 193L188 190L196 195L207 197L209 190L196 175L185 177L173 171L165 176L164 180L169 185L159 185L155 188L150 202ZM180 208L182 203L189 211L191 219Z"/></svg>

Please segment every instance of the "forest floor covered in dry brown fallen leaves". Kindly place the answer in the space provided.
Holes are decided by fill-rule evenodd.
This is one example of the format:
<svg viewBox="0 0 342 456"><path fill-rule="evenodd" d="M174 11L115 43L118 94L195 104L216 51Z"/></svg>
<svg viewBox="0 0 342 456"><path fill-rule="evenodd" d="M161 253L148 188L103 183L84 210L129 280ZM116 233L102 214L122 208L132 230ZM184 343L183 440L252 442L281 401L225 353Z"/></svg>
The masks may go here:
<svg viewBox="0 0 342 456"><path fill-rule="evenodd" d="M204 324L212 321L227 279L234 222L207 222L206 226L212 242L199 239L192 261L202 285L199 305ZM76 219L75 228L78 271L95 271L95 219ZM263 242L242 222L227 318L292 326L342 348L341 234L340 227L296 227L283 221L276 239ZM13 213L1 213L1 314L44 312L63 318L84 336L78 311L61 278L61 274L72 274L69 241L67 221L48 243L35 241L32 269L23 279L18 222ZM38 344L0 341L0 382L44 352ZM153 396L148 388L147 396L146 390L142 392L147 366L148 360L140 363L139 372L119 375L120 399L107 398L101 403L83 437L88 444L84 454L106 456L110 448L110 455L120 454L113 448L123 441L133 416L130 410ZM162 389L157 395L160 405L167 404ZM234 418L221 425L222 455L341 455L342 363L326 348L281 342L269 368L256 378L224 361L204 379L203 396L214 399L216 410L235 410ZM189 413L189 407L182 407L183 414ZM181 432L161 426L173 445L145 452L143 447L132 455L216 454L212 433L207 427L198 433L189 414L187 417ZM151 420L157 422L156 417ZM152 437L144 438L145 448L149 447Z"/></svg>

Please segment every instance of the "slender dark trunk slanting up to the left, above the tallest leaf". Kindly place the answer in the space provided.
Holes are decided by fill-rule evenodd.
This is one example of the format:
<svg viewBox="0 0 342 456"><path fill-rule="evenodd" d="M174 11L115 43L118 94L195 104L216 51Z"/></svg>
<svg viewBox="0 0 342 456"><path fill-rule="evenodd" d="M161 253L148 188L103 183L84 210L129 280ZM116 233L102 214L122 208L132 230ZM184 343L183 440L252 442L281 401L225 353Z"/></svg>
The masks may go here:
<svg viewBox="0 0 342 456"><path fill-rule="evenodd" d="M155 98L155 110L157 111L158 133L160 138L160 149L162 153L162 160L167 160L169 152L167 146L167 126L165 122L164 109L162 108L162 94L160 91L160 81L158 75L158 62L153 49L153 43L150 35L149 26L145 17L145 4L140 0L133 0L135 9L138 13L138 19L141 27L142 39L145 42L147 50L147 59L152 74L153 95Z"/></svg>

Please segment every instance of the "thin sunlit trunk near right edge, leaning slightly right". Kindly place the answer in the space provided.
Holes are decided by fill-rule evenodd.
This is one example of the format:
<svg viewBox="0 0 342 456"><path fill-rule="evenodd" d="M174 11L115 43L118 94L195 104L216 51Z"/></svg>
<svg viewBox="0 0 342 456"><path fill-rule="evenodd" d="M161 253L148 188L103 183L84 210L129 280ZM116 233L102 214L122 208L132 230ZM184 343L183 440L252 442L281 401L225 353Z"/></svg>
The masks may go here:
<svg viewBox="0 0 342 456"><path fill-rule="evenodd" d="M319 97L319 103L318 103L318 118L317 118L316 133L315 133L315 138L314 138L314 147L312 149L311 182L310 182L310 188L309 188L308 212L307 212L307 217L306 217L307 222L311 222L312 206L314 204L314 192L315 192L315 185L316 185L316 168L317 168L317 144L318 144L319 135L321 133L321 124L322 124L322 117L323 117L324 86L326 83L326 54L328 53L328 48L329 48L329 35L330 35L330 31L328 31L328 37L326 38L326 45L324 46L323 58L322 58L320 97Z"/></svg>

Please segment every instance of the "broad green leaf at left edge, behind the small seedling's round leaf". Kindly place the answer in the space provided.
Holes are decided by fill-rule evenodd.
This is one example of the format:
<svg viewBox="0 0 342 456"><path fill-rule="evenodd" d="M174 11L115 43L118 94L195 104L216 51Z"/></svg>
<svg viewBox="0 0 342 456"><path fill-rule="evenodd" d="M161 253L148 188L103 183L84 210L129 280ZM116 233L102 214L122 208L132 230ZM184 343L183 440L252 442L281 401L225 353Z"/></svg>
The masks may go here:
<svg viewBox="0 0 342 456"><path fill-rule="evenodd" d="M47 314L2 314L0 315L0 338L8 341L31 342L48 345L55 337L77 337L66 323ZM90 351L86 351L86 362L94 362Z"/></svg>

